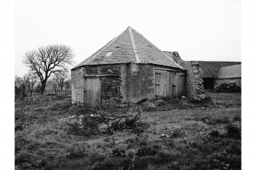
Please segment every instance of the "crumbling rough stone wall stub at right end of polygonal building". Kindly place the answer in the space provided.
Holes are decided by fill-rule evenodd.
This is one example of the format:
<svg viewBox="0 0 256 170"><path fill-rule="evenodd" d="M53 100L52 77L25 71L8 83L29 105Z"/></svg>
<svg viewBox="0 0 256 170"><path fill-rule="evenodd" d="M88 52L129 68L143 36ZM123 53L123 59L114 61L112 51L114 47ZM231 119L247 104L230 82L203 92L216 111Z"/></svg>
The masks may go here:
<svg viewBox="0 0 256 170"><path fill-rule="evenodd" d="M186 69L186 96L191 100L202 100L206 97L203 89L202 72L196 61L185 62L179 53L173 52L173 59Z"/></svg>

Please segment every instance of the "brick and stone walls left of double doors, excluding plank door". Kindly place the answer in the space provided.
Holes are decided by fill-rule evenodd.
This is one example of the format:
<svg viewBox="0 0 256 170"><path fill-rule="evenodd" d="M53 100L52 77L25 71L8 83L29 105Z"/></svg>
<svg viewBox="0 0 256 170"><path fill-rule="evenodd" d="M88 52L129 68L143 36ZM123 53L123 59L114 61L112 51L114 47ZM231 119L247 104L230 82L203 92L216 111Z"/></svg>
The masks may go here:
<svg viewBox="0 0 256 170"><path fill-rule="evenodd" d="M71 71L72 103L83 102L84 77L99 76L102 104L128 103L154 99L154 67L128 63L123 65L83 66Z"/></svg>

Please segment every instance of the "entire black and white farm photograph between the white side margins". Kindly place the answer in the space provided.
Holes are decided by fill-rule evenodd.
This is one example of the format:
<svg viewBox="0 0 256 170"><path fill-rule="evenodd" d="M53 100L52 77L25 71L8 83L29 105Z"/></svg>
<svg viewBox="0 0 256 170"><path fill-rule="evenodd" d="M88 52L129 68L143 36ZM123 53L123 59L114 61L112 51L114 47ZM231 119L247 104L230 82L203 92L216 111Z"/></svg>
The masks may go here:
<svg viewBox="0 0 256 170"><path fill-rule="evenodd" d="M14 16L2 169L241 169L241 0L15 0Z"/></svg>

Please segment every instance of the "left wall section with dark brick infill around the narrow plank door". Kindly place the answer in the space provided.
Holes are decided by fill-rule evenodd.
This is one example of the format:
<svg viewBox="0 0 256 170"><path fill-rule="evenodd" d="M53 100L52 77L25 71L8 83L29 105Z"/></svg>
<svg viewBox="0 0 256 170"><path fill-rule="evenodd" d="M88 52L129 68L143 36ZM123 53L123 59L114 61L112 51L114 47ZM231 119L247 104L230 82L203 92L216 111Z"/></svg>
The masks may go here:
<svg viewBox="0 0 256 170"><path fill-rule="evenodd" d="M72 103L83 103L83 89L86 76L100 77L100 98L102 104L109 101L122 101L120 91L121 67L116 65L84 66L71 70Z"/></svg>

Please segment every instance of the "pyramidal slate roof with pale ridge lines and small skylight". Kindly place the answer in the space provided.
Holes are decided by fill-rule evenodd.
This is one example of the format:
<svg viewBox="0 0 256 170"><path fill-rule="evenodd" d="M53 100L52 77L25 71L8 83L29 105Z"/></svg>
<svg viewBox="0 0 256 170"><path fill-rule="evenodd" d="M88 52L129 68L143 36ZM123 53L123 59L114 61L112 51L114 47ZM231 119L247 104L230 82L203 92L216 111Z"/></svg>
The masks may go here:
<svg viewBox="0 0 256 170"><path fill-rule="evenodd" d="M128 27L96 53L73 69L85 65L144 63L183 69L172 57L163 53L136 30Z"/></svg>

